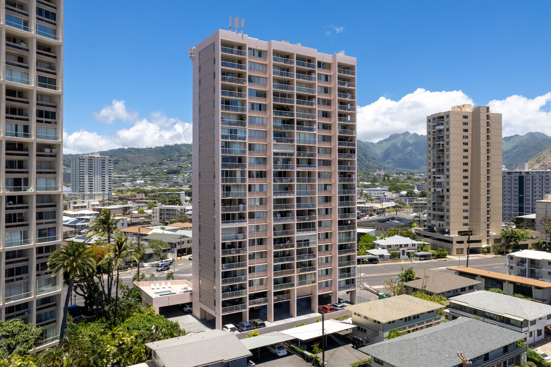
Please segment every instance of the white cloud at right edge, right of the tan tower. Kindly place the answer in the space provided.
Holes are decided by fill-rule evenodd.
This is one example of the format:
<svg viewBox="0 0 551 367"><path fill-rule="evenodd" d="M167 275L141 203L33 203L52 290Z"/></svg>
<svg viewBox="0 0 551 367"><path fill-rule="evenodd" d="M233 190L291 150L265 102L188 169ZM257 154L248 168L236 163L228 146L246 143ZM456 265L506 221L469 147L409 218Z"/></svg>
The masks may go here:
<svg viewBox="0 0 551 367"><path fill-rule="evenodd" d="M551 136L551 92L529 99L511 95L503 100L491 100L492 112L502 115L503 136L539 131Z"/></svg>

